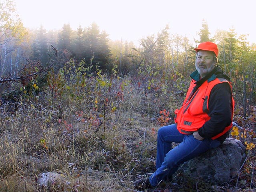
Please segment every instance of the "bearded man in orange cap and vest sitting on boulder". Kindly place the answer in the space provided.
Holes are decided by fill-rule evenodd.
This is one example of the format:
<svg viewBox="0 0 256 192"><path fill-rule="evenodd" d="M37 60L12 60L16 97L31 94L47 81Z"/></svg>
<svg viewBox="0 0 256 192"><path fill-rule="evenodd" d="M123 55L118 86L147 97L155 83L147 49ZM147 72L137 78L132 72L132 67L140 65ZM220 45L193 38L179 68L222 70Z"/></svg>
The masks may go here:
<svg viewBox="0 0 256 192"><path fill-rule="evenodd" d="M158 130L156 171L135 182L137 189L155 187L172 176L180 164L216 148L232 127L234 100L230 78L216 66L218 47L203 42L196 50L196 71L175 124ZM172 149L172 142L179 143Z"/></svg>

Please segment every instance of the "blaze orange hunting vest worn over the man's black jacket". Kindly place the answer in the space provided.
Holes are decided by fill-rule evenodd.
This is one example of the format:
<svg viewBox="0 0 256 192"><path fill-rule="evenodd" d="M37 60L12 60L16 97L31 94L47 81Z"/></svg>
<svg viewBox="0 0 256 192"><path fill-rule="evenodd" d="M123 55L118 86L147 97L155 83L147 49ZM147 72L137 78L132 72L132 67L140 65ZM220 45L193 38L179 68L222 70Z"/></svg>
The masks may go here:
<svg viewBox="0 0 256 192"><path fill-rule="evenodd" d="M186 98L183 102L182 107L178 110L175 110L175 123L177 125L177 129L182 134L192 134L195 131L198 131L206 121L210 120L208 102L209 96L212 88L219 83L228 82L230 88L232 90L231 83L224 78L216 78L210 82L207 80L196 90L194 95L191 97L192 90L196 86L194 84L196 81L192 80L190 83L190 87L188 89ZM190 98L191 97L191 98ZM232 97L232 118L234 111L234 99ZM223 132L217 134L212 137L212 139L216 139L223 134L225 134L232 127L232 121L229 126L227 126Z"/></svg>

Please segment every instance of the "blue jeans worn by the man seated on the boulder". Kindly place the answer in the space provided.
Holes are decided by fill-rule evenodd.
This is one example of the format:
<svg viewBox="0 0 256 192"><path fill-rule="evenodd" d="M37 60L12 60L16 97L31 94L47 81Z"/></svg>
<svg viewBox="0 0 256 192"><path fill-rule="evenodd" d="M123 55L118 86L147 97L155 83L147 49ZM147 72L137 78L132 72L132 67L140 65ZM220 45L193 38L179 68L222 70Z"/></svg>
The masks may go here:
<svg viewBox="0 0 256 192"><path fill-rule="evenodd" d="M172 142L179 144L172 149ZM161 127L157 136L156 172L150 176L150 184L157 186L172 176L182 163L220 144L211 138L199 141L192 134L181 134L175 124Z"/></svg>

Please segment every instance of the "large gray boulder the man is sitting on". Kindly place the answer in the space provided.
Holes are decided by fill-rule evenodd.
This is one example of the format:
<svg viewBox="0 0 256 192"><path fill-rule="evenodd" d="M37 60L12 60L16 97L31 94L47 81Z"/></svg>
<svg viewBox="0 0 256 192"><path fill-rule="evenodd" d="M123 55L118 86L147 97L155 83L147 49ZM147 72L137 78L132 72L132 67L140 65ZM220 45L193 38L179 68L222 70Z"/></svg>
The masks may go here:
<svg viewBox="0 0 256 192"><path fill-rule="evenodd" d="M220 185L237 176L246 154L240 140L226 138L214 148L182 164L172 175L173 182L198 182L202 180Z"/></svg>

